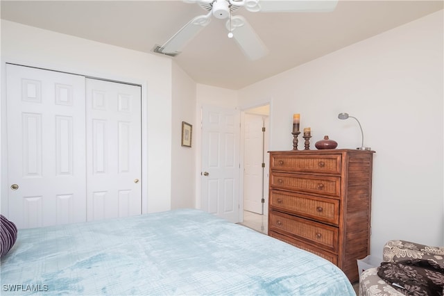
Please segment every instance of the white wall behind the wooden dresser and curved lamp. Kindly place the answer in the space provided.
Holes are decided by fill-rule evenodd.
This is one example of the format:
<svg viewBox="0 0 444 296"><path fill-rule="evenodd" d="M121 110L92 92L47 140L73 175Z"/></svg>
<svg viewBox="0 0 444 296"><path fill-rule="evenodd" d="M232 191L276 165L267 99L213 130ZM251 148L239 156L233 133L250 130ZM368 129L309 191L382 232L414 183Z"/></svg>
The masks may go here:
<svg viewBox="0 0 444 296"><path fill-rule="evenodd" d="M444 245L443 11L239 91L239 106L271 98L271 150L292 147L292 114L338 148L364 145L373 165L370 253L387 240Z"/></svg>

